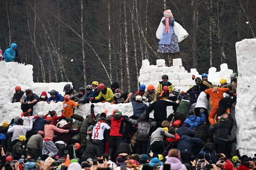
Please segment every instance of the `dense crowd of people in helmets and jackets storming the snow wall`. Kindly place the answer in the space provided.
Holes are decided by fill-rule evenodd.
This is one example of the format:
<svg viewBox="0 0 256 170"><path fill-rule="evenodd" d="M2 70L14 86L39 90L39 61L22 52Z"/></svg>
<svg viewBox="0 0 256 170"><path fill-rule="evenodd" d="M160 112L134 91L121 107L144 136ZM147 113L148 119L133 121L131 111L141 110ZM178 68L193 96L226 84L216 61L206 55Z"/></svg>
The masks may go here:
<svg viewBox="0 0 256 170"><path fill-rule="evenodd" d="M118 82L107 88L94 81L78 93L66 84L64 97L54 89L38 96L32 89L22 91L17 86L12 102L20 102L23 113L0 127L1 168L255 168L254 159L230 152L236 142L228 137L234 122L230 110L236 102L237 76L231 75L231 84L222 78L216 85L202 74L194 77L195 85L181 91L163 75L156 89L141 84L134 94L123 93ZM62 102L61 115L54 110L33 113L39 101ZM121 113L119 105L113 113L94 113L97 102L132 102L133 115ZM74 114L75 107L84 103L91 103L85 118ZM168 106L174 111L169 115Z"/></svg>

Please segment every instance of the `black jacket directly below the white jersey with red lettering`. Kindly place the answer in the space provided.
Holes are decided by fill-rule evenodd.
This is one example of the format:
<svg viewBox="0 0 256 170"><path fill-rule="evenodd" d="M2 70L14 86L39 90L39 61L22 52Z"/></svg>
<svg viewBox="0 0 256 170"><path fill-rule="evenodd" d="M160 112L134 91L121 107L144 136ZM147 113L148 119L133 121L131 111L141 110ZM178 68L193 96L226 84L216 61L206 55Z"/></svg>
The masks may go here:
<svg viewBox="0 0 256 170"><path fill-rule="evenodd" d="M100 145L101 143L98 140L94 140L90 145L88 145L82 154L81 162L86 161L88 158L101 157Z"/></svg>

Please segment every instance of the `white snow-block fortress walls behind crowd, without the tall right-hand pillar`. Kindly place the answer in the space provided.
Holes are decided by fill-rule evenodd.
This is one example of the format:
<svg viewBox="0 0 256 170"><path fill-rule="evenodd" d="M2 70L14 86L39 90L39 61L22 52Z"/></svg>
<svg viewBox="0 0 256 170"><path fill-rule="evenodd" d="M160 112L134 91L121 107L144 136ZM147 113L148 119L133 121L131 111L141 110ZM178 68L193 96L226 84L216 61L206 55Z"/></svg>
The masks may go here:
<svg viewBox="0 0 256 170"><path fill-rule="evenodd" d="M195 84L195 81L192 80L192 75L201 77L196 69L190 69L191 73L188 73L182 66L182 60L180 58L174 59L173 65L172 67L166 67L163 59L156 60L156 65L150 65L148 60L143 60L139 82L146 86L154 84L155 88L157 88L158 81L161 81L162 75L167 74L171 83L175 86L180 86L182 90L187 90L191 85ZM225 77L229 82L229 76L232 72L233 71L228 69L225 63L221 65L220 72L216 72L216 68L214 67L210 68L208 76L209 81L217 83L220 78ZM42 91L49 92L52 89L64 95L63 87L65 84L72 84L71 82L33 82L33 66L29 64L0 62L0 73L0 123L3 121L10 122L11 119L20 116L22 113L20 102L11 103L15 86L20 86L22 90L31 88L33 92L38 95L40 95ZM111 114L114 110L118 109L125 115L130 116L133 114L131 103L118 105L96 103L94 105L95 113L101 113L103 110L108 109L108 114ZM49 110L55 110L60 114L62 108L62 102L47 104L46 102L40 101L34 106L34 114L46 114ZM168 114L172 112L172 107L168 107ZM81 104L79 108L75 109L74 113L86 117L87 114L90 114L90 104ZM153 113L151 113L151 116L152 115Z"/></svg>

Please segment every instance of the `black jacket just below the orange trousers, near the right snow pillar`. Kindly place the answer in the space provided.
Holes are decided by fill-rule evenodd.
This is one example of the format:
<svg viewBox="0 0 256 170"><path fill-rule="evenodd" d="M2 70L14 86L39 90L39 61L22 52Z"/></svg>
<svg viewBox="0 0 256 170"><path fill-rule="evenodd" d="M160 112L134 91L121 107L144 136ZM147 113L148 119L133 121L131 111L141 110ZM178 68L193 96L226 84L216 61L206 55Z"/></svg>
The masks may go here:
<svg viewBox="0 0 256 170"><path fill-rule="evenodd" d="M221 120L219 125L216 127L216 139L228 140L230 126L231 121L229 118Z"/></svg>

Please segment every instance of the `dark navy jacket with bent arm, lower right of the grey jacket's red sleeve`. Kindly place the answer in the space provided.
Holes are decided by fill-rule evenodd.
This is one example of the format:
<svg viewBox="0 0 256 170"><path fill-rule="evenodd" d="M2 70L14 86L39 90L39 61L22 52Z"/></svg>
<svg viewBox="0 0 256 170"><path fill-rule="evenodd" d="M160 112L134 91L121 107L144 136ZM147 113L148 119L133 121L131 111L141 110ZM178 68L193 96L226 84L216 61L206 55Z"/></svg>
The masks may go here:
<svg viewBox="0 0 256 170"><path fill-rule="evenodd" d="M199 149L205 145L205 143L199 138L191 138L187 135L182 135L181 140L178 143L177 149L181 153L192 154L193 147L192 144L197 144Z"/></svg>

